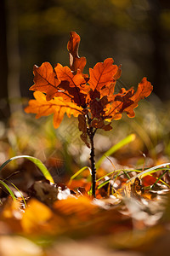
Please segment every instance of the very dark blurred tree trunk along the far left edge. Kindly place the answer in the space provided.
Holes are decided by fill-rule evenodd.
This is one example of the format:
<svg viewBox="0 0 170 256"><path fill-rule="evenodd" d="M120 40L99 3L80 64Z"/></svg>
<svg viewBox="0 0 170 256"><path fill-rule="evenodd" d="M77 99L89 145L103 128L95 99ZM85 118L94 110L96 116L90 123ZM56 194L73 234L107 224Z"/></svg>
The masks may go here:
<svg viewBox="0 0 170 256"><path fill-rule="evenodd" d="M9 115L5 0L0 1L0 119Z"/></svg>

